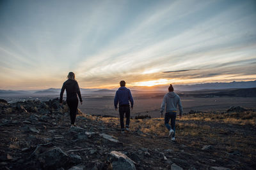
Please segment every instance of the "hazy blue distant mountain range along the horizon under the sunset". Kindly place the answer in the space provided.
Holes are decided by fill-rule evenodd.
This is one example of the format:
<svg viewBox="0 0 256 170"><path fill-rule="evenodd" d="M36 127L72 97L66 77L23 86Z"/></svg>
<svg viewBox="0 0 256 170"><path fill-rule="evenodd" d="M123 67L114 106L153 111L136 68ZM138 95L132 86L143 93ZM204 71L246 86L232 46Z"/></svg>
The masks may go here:
<svg viewBox="0 0 256 170"><path fill-rule="evenodd" d="M255 81L232 81L230 83L201 83L195 85L173 85L175 90L180 91L193 91L193 90L220 90L220 89L248 89L255 88ZM167 90L168 86L156 86L156 87L131 87L132 92L147 91L147 90ZM45 90L0 90L0 96L46 96L46 95L58 95L61 89L45 89ZM114 89L80 89L81 94L86 93L113 93Z"/></svg>

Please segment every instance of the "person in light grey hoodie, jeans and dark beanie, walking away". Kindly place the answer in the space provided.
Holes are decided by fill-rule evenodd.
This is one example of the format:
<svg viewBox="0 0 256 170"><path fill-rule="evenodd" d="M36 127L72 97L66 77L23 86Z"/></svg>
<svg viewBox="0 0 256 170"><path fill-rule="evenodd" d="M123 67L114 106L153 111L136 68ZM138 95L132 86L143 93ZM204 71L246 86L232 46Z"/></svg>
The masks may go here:
<svg viewBox="0 0 256 170"><path fill-rule="evenodd" d="M180 97L173 92L172 84L168 88L169 92L164 95L163 103L161 104L161 117L163 117L163 112L166 110L164 115L164 125L169 131L169 136L171 136L171 140L175 141L175 120L177 116L177 106L179 106L179 115L182 117L182 104L180 101ZM171 120L171 126L169 122Z"/></svg>

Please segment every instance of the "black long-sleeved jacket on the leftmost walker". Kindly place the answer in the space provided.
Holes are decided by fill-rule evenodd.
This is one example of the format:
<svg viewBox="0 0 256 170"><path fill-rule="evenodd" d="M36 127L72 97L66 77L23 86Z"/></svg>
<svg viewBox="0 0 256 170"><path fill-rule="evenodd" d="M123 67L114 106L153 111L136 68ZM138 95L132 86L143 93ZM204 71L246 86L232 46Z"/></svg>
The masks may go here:
<svg viewBox="0 0 256 170"><path fill-rule="evenodd" d="M79 96L80 101L83 101L77 81L68 79L63 83L63 86L61 88L60 103L62 103L63 93L65 89L67 92L67 101L77 100L77 95Z"/></svg>

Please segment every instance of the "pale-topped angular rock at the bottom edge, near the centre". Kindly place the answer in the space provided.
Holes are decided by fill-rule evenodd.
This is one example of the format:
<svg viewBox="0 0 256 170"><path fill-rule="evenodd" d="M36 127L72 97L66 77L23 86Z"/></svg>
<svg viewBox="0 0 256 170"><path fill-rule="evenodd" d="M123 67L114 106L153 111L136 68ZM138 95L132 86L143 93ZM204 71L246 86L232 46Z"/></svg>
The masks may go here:
<svg viewBox="0 0 256 170"><path fill-rule="evenodd" d="M109 162L111 162L113 170L135 170L134 162L129 159L124 153L112 151L108 156Z"/></svg>

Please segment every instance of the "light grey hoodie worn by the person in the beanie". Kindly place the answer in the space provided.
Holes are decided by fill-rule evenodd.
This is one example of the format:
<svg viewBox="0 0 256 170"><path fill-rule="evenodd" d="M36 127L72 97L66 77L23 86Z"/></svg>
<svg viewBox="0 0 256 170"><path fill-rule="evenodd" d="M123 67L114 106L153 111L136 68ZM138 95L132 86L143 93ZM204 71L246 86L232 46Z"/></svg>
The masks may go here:
<svg viewBox="0 0 256 170"><path fill-rule="evenodd" d="M180 102L180 97L175 94L175 92L168 92L164 95L163 103L161 105L161 113L164 112L166 105L166 112L177 111L177 106L179 105L180 115L182 115L182 105Z"/></svg>

